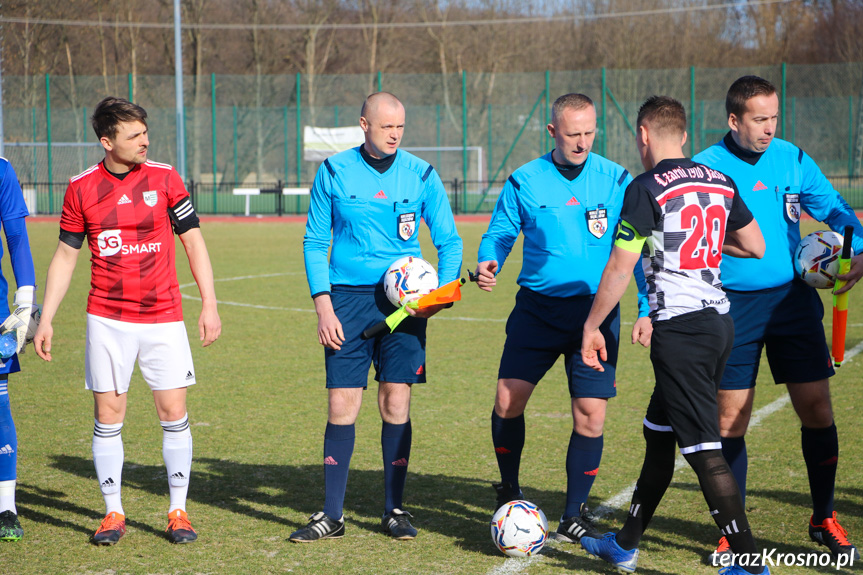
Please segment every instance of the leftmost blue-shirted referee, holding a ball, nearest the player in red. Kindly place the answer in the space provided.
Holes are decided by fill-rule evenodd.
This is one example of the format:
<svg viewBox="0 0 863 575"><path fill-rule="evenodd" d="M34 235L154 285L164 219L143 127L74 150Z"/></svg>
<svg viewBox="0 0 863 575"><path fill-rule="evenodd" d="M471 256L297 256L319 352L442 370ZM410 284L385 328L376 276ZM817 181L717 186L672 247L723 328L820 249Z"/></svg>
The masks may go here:
<svg viewBox="0 0 863 575"><path fill-rule="evenodd" d="M325 348L329 411L324 434L323 510L290 540L298 543L344 535L342 506L354 450L354 423L374 364L383 427L384 514L394 539L417 531L402 507L410 461L411 386L426 381L426 319L442 306L410 310L392 334L364 340L368 327L395 311L383 276L403 256L421 257L420 219L438 252L440 283L459 277L462 242L440 177L428 163L399 150L405 127L402 103L386 92L363 104L363 145L324 161L311 190L303 241L306 276ZM330 245L332 243L332 249ZM329 251L329 259L327 253Z"/></svg>

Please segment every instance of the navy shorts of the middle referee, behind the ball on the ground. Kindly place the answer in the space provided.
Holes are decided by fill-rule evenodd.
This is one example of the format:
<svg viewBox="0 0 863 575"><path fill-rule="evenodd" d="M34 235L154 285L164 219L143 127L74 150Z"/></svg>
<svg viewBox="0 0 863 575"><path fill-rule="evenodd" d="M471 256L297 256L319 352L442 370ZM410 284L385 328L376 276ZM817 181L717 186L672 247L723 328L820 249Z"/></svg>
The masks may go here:
<svg viewBox="0 0 863 575"><path fill-rule="evenodd" d="M498 378L536 385L562 354L570 397L617 395L614 375L620 306L615 306L599 328L608 349L608 361L602 363L605 371L600 373L581 361L581 336L591 305L593 296L551 297L521 288L506 322Z"/></svg>

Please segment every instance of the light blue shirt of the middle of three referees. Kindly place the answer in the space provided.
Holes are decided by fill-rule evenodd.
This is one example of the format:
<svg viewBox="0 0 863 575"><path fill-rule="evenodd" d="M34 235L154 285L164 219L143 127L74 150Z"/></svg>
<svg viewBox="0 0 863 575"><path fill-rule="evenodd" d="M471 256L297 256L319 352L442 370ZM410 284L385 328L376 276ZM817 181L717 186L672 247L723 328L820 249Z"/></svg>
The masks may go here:
<svg viewBox="0 0 863 575"><path fill-rule="evenodd" d="M588 155L572 181L555 167L551 153L528 162L501 191L482 236L479 261L496 261L500 273L523 233L520 286L553 297L596 293L631 181L622 166L596 154ZM640 271L638 266L641 286ZM646 313L646 299L644 303Z"/></svg>

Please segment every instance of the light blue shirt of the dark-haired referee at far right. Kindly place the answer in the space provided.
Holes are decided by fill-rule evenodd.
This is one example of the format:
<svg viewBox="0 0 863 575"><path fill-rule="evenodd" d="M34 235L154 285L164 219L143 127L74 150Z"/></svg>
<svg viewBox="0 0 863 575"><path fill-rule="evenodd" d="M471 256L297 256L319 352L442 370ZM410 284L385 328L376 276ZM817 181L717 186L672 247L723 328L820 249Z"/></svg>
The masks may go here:
<svg viewBox="0 0 863 575"><path fill-rule="evenodd" d="M800 210L830 229L854 227L854 253L863 253L863 226L847 202L803 150L774 138L755 164L737 157L725 140L693 160L731 176L746 202L767 250L761 259L723 256L724 287L755 291L784 285L794 279L794 251L800 243Z"/></svg>

